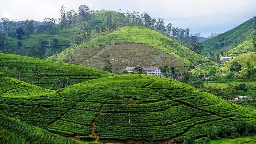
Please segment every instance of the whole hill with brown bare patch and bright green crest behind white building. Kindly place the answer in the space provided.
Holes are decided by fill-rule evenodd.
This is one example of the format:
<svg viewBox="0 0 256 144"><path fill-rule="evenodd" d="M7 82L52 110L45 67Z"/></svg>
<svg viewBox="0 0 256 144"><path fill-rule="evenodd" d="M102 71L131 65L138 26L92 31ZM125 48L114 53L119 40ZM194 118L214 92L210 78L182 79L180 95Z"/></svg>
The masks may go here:
<svg viewBox="0 0 256 144"><path fill-rule="evenodd" d="M154 30L135 26L118 28L49 59L65 61L68 56L74 64L96 68L102 68L104 59L108 59L116 71L123 71L127 66L161 64L184 69L208 61Z"/></svg>

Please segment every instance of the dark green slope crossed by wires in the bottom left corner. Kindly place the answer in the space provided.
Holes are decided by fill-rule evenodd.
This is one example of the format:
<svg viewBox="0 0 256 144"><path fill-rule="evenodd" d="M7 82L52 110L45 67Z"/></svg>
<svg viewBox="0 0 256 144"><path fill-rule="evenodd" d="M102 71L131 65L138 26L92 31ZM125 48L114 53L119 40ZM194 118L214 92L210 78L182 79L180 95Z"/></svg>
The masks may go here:
<svg viewBox="0 0 256 144"><path fill-rule="evenodd" d="M3 115L0 115L0 124L0 134L3 136L1 138L4 138L4 141L2 141L3 143L86 144L85 142L78 142L57 134L49 133L44 129L30 126L12 118L4 117Z"/></svg>

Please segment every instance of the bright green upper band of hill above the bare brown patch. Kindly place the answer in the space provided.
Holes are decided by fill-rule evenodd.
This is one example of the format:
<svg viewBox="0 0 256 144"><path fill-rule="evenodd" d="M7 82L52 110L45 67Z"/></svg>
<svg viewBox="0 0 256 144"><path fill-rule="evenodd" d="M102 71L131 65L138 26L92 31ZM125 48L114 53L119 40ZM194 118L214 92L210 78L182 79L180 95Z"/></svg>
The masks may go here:
<svg viewBox="0 0 256 144"><path fill-rule="evenodd" d="M85 49L95 46L106 46L125 42L141 43L164 51L171 54L173 57L178 58L187 66L193 66L194 64L199 64L199 62L207 61L201 55L196 54L195 52L154 30L135 26L124 27L124 30L123 28L118 28L116 31L110 34L100 36L76 47L75 49L68 49L65 52L58 54L57 56L52 56L50 58L63 59L64 53L71 53L76 49Z"/></svg>

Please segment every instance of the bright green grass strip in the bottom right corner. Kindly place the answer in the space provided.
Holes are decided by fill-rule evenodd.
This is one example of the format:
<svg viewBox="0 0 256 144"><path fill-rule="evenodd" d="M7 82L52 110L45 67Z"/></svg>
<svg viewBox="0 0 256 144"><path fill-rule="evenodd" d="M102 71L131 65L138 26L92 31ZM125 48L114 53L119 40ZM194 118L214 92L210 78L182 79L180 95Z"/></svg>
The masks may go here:
<svg viewBox="0 0 256 144"><path fill-rule="evenodd" d="M212 144L255 144L256 136L240 137L235 139L212 140Z"/></svg>

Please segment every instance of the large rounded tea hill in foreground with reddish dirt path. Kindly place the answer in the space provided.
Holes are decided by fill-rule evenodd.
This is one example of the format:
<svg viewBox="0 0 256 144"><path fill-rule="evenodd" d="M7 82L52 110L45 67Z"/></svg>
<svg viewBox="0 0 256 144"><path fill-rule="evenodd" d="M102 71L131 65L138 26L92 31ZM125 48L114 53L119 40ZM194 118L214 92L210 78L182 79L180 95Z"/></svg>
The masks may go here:
<svg viewBox="0 0 256 144"><path fill-rule="evenodd" d="M256 114L246 108L148 75L110 76L31 97L3 96L0 113L89 141L182 141L191 134L205 136L211 126L232 127L240 119L256 125Z"/></svg>

